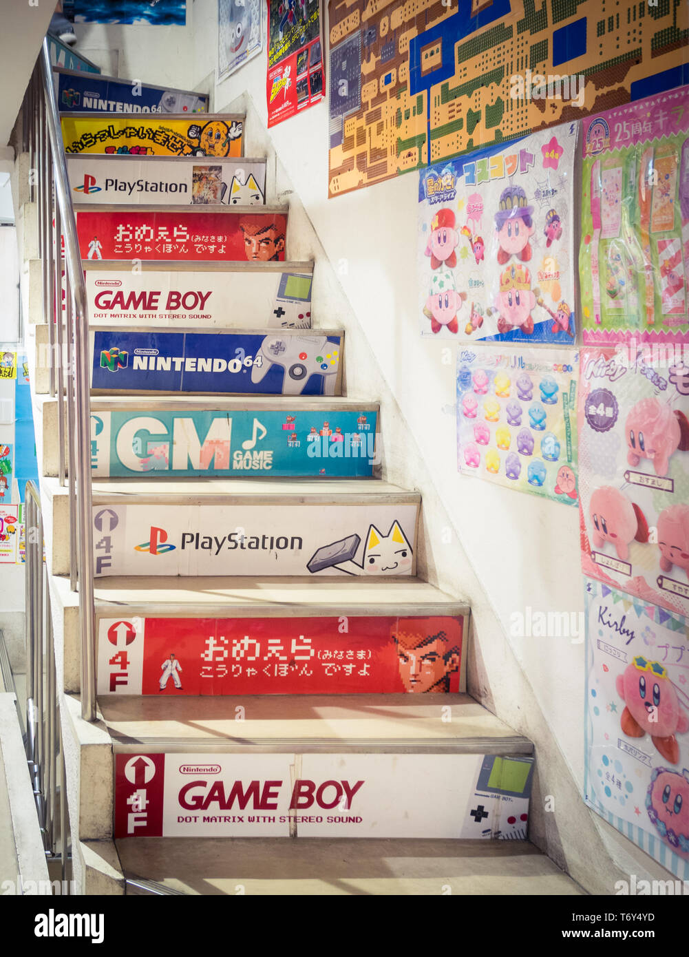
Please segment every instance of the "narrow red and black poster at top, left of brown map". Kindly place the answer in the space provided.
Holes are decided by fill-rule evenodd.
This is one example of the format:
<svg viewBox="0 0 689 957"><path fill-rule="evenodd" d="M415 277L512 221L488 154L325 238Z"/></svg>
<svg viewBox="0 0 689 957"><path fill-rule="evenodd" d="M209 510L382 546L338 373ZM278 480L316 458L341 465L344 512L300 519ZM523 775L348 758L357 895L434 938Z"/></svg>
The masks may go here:
<svg viewBox="0 0 689 957"><path fill-rule="evenodd" d="M267 0L268 125L323 98L321 0Z"/></svg>

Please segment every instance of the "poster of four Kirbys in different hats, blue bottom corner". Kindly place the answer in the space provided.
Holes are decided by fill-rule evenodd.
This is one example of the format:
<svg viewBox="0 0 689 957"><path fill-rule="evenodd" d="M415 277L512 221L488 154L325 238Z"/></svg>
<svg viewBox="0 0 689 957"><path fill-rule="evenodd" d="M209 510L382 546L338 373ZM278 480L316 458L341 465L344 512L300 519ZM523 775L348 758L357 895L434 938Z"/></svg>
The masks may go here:
<svg viewBox="0 0 689 957"><path fill-rule="evenodd" d="M573 345L577 124L419 173L421 334Z"/></svg>

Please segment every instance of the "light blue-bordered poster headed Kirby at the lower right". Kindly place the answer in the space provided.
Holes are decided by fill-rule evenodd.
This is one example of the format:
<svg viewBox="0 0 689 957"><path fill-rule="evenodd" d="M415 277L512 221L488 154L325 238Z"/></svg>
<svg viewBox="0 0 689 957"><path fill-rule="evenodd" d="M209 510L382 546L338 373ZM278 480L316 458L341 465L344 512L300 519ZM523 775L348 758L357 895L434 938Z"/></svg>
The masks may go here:
<svg viewBox="0 0 689 957"><path fill-rule="evenodd" d="M586 803L689 879L687 621L594 581L587 618Z"/></svg>

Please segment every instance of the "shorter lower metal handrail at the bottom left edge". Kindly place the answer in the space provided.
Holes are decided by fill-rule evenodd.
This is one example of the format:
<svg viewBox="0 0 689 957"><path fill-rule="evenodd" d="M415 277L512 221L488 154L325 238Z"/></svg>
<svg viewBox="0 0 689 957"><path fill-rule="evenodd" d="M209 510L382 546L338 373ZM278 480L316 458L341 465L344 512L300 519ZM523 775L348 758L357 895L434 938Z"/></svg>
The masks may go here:
<svg viewBox="0 0 689 957"><path fill-rule="evenodd" d="M62 744L62 723L59 717L48 570L43 561L43 518L40 495L33 481L26 483L24 502L24 557L27 585L27 760L46 857L53 860L60 859L62 886L66 887L69 886L70 859L67 775ZM59 854L57 853L58 839Z"/></svg>

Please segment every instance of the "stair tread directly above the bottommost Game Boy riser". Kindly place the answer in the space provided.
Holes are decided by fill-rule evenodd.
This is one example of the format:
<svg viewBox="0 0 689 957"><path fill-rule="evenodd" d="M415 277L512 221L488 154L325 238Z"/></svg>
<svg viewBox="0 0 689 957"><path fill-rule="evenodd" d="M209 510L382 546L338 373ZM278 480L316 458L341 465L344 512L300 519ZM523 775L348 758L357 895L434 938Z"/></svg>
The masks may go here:
<svg viewBox="0 0 689 957"><path fill-rule="evenodd" d="M245 709L236 721L235 708ZM452 720L443 721L450 705ZM531 753L533 746L469 695L256 695L200 698L106 696L100 712L116 751L339 753L398 748L454 753ZM485 749L488 748L486 751Z"/></svg>

